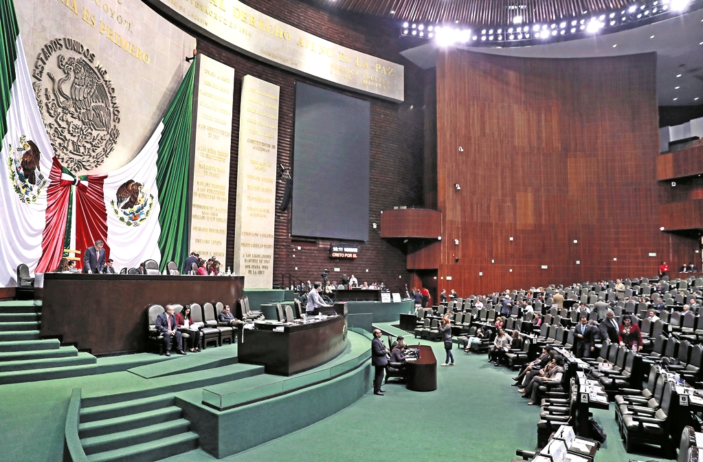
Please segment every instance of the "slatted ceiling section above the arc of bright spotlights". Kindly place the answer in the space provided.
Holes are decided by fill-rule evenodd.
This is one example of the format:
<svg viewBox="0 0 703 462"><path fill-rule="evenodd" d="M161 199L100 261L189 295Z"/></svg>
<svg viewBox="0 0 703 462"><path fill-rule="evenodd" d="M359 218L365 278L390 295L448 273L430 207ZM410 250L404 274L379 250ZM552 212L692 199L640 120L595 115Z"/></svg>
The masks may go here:
<svg viewBox="0 0 703 462"><path fill-rule="evenodd" d="M632 4L626 0L314 0L356 13L395 20L463 25L541 23L600 13Z"/></svg>

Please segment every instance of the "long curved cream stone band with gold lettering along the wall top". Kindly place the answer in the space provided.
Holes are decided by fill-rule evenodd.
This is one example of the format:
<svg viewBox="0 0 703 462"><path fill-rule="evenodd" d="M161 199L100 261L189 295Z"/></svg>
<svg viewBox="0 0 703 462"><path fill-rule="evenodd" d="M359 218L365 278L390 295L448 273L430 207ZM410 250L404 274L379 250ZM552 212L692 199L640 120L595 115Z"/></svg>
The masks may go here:
<svg viewBox="0 0 703 462"><path fill-rule="evenodd" d="M204 34L293 72L401 102L402 65L316 37L236 0L146 0Z"/></svg>

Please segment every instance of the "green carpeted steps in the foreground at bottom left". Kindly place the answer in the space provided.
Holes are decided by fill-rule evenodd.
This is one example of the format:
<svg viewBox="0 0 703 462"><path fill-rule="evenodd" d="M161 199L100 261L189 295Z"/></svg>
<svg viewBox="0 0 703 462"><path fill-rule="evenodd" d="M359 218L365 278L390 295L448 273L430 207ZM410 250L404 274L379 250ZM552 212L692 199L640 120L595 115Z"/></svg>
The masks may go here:
<svg viewBox="0 0 703 462"><path fill-rule="evenodd" d="M78 435L88 460L157 461L192 451L198 435L173 394L81 409Z"/></svg>

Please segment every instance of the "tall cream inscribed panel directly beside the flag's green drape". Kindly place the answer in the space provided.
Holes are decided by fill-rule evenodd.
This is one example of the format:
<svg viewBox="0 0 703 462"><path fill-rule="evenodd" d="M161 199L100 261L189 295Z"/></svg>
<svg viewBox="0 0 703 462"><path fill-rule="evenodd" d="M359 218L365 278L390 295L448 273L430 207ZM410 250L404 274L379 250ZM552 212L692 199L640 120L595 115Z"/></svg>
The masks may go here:
<svg viewBox="0 0 703 462"><path fill-rule="evenodd" d="M191 249L225 269L234 69L198 56Z"/></svg>

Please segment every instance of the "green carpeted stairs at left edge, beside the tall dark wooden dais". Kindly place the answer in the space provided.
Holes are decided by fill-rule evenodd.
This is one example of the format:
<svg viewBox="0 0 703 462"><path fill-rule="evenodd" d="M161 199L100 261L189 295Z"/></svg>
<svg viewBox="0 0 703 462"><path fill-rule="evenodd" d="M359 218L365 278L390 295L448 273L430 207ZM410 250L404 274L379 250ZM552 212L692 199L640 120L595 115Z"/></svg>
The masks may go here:
<svg viewBox="0 0 703 462"><path fill-rule="evenodd" d="M39 339L40 310L31 300L0 303L0 385L96 372L93 355Z"/></svg>

